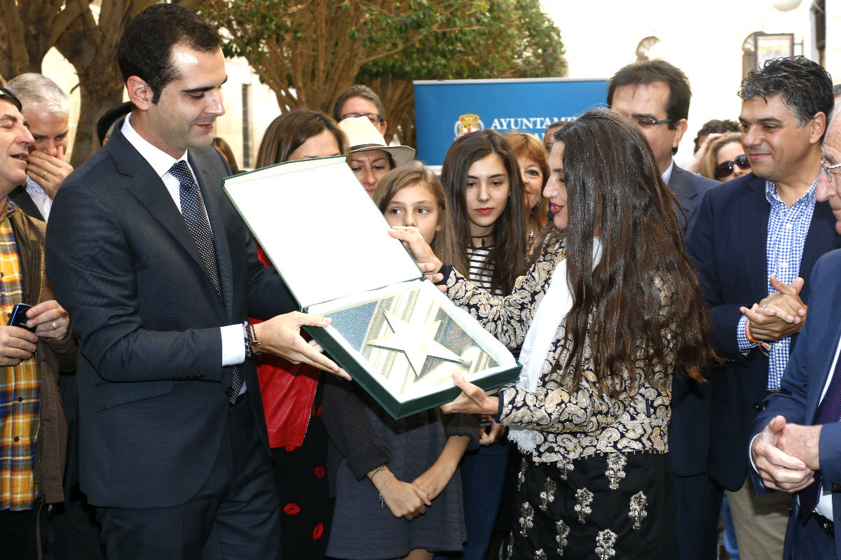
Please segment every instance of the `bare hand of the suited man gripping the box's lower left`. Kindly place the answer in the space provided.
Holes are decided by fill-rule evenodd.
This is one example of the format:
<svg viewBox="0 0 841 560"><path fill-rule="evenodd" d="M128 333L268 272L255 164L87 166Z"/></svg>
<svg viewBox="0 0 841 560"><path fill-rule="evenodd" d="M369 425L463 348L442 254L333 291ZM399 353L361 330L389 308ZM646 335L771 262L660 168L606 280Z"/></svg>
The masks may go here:
<svg viewBox="0 0 841 560"><path fill-rule="evenodd" d="M331 322L330 318L320 315L292 311L257 323L254 325L254 334L260 342L261 352L280 356L293 364L309 364L351 380L351 376L344 369L323 354L324 349L315 340L307 343L301 336L301 327L327 327Z"/></svg>

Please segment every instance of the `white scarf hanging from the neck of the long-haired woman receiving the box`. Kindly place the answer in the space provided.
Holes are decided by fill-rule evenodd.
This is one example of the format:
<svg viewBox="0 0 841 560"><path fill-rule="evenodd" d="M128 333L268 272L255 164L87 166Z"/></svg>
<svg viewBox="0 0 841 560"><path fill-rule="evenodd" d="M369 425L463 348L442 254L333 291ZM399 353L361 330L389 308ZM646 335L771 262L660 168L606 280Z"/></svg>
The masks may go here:
<svg viewBox="0 0 841 560"><path fill-rule="evenodd" d="M601 259L601 243L599 238L593 238L593 268ZM558 279L557 282L553 281ZM563 318L567 316L573 306L573 296L567 284L567 259L561 259L555 264L552 278L549 279L546 293L537 306L532 317L532 324L528 327L526 338L520 351L520 362L523 368L516 386L519 389L533 393L544 373L552 364L546 363L546 357L552 350L553 343L558 338L558 328ZM500 398L501 395L500 395ZM508 428L508 438L520 447L523 453L534 453L537 443L542 440L541 433L526 427L511 426Z"/></svg>

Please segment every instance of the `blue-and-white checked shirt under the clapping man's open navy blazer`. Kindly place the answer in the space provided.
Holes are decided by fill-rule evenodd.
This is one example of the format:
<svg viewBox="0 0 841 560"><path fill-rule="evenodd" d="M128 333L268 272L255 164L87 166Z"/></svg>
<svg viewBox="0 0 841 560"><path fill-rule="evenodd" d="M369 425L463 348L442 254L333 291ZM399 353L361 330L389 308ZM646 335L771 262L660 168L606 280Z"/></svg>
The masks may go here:
<svg viewBox="0 0 841 560"><path fill-rule="evenodd" d="M765 248L768 270L765 278L775 275L783 284L791 284L799 274L803 245L806 244L809 224L812 223L812 214L815 212L816 185L817 179L812 183L812 187L807 193L800 197L800 200L792 204L791 207L786 207L785 202L780 199L780 195L777 193L776 183L765 181L765 198L768 199L770 204ZM771 287L770 280L767 288L769 294L776 291ZM748 338L744 336L746 322L748 322L748 317L742 317L738 322L736 332L738 348L742 350L755 346L755 344L749 343ZM778 390L791 351L791 337L780 338L780 340L770 344L767 389Z"/></svg>

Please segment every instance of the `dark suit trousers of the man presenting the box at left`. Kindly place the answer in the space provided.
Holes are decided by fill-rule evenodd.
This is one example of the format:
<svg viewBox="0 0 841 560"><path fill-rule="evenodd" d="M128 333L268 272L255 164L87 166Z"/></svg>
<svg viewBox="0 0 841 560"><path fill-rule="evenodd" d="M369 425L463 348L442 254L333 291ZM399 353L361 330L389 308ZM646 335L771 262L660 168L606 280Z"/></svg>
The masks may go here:
<svg viewBox="0 0 841 560"><path fill-rule="evenodd" d="M249 396L230 407L210 476L187 503L100 508L109 560L280 558L280 508Z"/></svg>

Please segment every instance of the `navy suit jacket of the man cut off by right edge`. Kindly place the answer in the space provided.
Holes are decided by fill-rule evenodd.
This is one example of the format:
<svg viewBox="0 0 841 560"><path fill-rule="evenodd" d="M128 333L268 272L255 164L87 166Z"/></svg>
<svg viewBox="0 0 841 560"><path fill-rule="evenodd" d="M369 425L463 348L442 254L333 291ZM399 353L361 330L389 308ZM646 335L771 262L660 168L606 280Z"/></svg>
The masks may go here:
<svg viewBox="0 0 841 560"><path fill-rule="evenodd" d="M807 301L809 313L800 333L800 342L785 368L780 392L765 401L765 410L754 420L753 438L762 432L774 416L785 421L812 426L820 404L823 386L833 365L838 339L841 338L841 251L818 259L812 271L812 292ZM818 451L823 488L833 493L833 521L841 523L841 423L825 424L821 429ZM758 493L767 494L759 474L751 468ZM792 538L800 527L797 500L785 532L785 558L790 557ZM835 554L841 560L841 531L835 531Z"/></svg>

